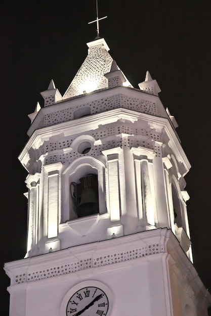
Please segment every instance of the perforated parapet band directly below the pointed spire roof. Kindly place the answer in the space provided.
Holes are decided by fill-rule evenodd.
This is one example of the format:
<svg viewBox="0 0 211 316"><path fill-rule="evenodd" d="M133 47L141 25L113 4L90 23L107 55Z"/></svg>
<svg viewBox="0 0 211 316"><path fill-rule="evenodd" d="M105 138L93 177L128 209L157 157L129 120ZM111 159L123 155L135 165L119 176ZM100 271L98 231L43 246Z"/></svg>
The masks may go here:
<svg viewBox="0 0 211 316"><path fill-rule="evenodd" d="M169 119L161 101L156 96L143 93L138 89L118 86L109 90L95 91L91 94L62 100L51 107L41 108L27 134L31 136L38 128L47 127L48 125L53 127L58 123L73 120L74 111L83 107L91 107L92 114L103 112L105 115L108 110L127 108L140 113L152 114L156 117L159 115L166 118L167 121ZM152 124L156 124L156 121Z"/></svg>

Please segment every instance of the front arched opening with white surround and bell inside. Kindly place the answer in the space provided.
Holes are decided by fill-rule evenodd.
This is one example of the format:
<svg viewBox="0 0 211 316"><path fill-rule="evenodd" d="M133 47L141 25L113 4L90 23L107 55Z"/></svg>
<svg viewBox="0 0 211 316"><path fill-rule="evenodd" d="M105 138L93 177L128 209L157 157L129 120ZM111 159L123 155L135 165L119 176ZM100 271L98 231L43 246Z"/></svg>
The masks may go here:
<svg viewBox="0 0 211 316"><path fill-rule="evenodd" d="M92 175L91 179L87 176ZM90 195L88 194L88 187L92 185L91 188L94 192L93 196L98 196L98 200L92 197L92 201L96 202L98 209L89 212L88 214L77 214L76 207L81 204L82 201L87 201ZM105 164L95 157L85 155L78 157L70 166L66 168L62 175L62 219L65 221L75 220L80 217L86 217L91 215L91 213L105 214L107 213L106 208L106 195L105 195ZM74 190L77 190L74 192ZM83 194L82 194L82 191ZM91 190L90 190L91 191ZM85 197L82 197L84 195ZM74 201L74 199L77 199ZM84 199L85 198L85 199Z"/></svg>

